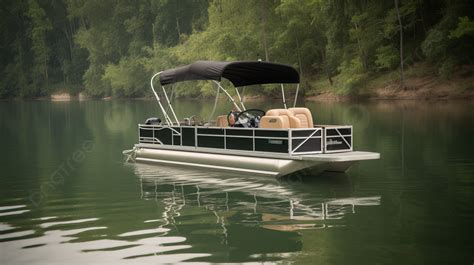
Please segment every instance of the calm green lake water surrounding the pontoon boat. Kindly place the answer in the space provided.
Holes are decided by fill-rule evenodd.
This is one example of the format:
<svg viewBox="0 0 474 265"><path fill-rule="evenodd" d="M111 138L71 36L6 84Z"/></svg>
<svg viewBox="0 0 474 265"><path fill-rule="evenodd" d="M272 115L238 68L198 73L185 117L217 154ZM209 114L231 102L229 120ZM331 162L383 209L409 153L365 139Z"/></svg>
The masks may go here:
<svg viewBox="0 0 474 265"><path fill-rule="evenodd" d="M153 101L0 102L0 264L474 262L473 102L306 106L382 158L279 180L127 164Z"/></svg>

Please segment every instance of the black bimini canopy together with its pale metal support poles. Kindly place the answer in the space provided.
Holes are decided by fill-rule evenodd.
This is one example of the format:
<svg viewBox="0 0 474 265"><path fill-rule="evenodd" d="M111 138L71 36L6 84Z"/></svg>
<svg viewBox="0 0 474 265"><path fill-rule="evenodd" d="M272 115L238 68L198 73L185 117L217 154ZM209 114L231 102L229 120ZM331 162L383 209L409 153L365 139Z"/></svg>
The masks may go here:
<svg viewBox="0 0 474 265"><path fill-rule="evenodd" d="M160 84L163 89L165 100L177 124L179 124L179 120L176 117L171 102L166 94L166 90L164 88L165 85L188 80L213 80L218 86L218 89L221 89L227 95L236 109L242 111L232 96L230 96L230 94L221 86L220 81L222 78L228 79L234 85L240 100L240 104L244 110L245 107L242 103L242 98L240 97L237 87L257 84L281 84L283 105L285 108L287 108L283 84L297 84L296 96L293 104L295 106L300 82L300 76L293 67L284 64L262 61L196 61L186 66L165 70L153 75L150 80L150 85L156 100L160 105L160 109L163 112L166 123L168 124L173 124L173 122L168 113L165 111L163 105L161 104L161 100L153 87L153 79L156 76L159 76L160 78Z"/></svg>

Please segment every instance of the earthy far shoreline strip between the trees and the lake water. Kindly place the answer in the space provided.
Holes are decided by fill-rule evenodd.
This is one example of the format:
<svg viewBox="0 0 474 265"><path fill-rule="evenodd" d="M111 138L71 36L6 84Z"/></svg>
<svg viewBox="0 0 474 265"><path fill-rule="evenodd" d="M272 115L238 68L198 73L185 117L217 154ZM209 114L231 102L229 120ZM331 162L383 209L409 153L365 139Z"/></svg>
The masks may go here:
<svg viewBox="0 0 474 265"><path fill-rule="evenodd" d="M400 87L398 75L395 72L386 72L372 76L354 89L344 88L344 79L333 78L332 86L320 79L307 80L304 84L300 100L316 102L335 101L390 101L390 100L417 100L417 101L445 101L445 100L474 100L474 66L464 66L454 71L450 79L443 79L436 74L433 66L417 64L407 70L405 89ZM317 77L316 77L317 78ZM303 95L303 93L305 95ZM287 94L290 98L294 95ZM221 96L222 97L222 96ZM180 97L179 100L214 100L214 97ZM153 95L139 97L91 97L82 91L71 94L65 90L52 93L48 96L33 98L0 98L0 101L16 100L50 100L54 102L84 101L84 100L155 100ZM281 100L281 94L274 95L246 95L244 102L258 102L265 100Z"/></svg>

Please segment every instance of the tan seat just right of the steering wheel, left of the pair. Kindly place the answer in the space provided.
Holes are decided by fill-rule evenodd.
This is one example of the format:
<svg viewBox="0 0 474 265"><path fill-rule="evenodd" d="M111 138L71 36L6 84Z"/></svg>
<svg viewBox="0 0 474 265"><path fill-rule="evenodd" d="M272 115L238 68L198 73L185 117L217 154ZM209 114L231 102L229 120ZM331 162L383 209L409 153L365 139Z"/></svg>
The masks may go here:
<svg viewBox="0 0 474 265"><path fill-rule="evenodd" d="M260 120L260 128L300 128L300 121L286 109L271 109Z"/></svg>

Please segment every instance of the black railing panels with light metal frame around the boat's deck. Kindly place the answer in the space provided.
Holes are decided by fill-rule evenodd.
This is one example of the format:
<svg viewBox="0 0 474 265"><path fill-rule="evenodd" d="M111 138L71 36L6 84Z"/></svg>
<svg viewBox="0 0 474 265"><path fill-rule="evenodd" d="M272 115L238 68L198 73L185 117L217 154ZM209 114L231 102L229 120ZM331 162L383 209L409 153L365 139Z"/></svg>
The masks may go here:
<svg viewBox="0 0 474 265"><path fill-rule="evenodd" d="M297 129L139 125L139 142L288 155L352 151L352 126Z"/></svg>

